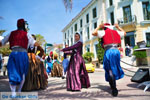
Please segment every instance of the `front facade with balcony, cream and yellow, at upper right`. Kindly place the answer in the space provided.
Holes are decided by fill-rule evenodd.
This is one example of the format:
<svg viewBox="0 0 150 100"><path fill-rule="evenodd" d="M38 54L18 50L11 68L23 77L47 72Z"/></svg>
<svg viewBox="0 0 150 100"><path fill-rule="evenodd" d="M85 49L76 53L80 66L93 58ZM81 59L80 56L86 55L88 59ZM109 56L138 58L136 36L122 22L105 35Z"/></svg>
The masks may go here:
<svg viewBox="0 0 150 100"><path fill-rule="evenodd" d="M106 22L118 23L126 32L122 47L145 41L150 45L150 0L105 0Z"/></svg>

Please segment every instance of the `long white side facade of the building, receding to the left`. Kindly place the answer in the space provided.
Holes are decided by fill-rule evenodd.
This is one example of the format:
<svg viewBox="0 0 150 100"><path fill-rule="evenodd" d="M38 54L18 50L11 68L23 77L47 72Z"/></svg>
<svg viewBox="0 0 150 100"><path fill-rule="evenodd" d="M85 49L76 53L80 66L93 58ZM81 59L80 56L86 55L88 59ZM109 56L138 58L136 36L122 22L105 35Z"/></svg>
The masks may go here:
<svg viewBox="0 0 150 100"><path fill-rule="evenodd" d="M92 0L72 21L62 30L63 44L71 46L74 43L74 34L79 32L83 40L83 54L93 52L97 61L98 38L92 36L93 30L104 18L103 0Z"/></svg>

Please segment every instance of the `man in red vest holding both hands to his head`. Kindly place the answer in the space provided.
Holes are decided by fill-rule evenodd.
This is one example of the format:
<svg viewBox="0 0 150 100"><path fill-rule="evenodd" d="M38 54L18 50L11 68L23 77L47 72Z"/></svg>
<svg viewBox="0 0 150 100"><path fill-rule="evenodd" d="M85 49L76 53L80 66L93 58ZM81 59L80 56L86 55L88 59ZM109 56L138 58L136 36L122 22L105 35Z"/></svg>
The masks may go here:
<svg viewBox="0 0 150 100"><path fill-rule="evenodd" d="M117 31L109 23L100 24L92 33L93 36L98 36L103 40L105 80L109 82L113 96L118 95L116 80L124 77L124 72L120 66L118 45L121 44L121 37L126 35L126 32L118 24L115 24L115 28Z"/></svg>

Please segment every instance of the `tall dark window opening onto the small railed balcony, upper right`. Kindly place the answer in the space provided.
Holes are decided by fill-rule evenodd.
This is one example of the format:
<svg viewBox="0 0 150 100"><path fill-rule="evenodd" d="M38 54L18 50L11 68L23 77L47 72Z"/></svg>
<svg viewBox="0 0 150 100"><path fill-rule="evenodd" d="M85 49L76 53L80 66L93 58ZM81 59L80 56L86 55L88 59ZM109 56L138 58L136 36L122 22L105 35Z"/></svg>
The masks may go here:
<svg viewBox="0 0 150 100"><path fill-rule="evenodd" d="M132 21L130 6L123 7L123 16L124 16L124 23L129 23Z"/></svg>

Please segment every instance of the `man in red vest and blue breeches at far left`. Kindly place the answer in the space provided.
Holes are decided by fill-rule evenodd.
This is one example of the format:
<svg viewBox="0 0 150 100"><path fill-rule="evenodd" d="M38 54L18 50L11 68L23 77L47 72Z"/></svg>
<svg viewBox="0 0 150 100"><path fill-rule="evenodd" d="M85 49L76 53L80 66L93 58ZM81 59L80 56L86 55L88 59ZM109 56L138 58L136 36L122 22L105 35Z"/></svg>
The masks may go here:
<svg viewBox="0 0 150 100"><path fill-rule="evenodd" d="M12 96L16 96L16 86L19 86L18 92L21 92L25 81L25 76L28 72L28 44L37 45L31 35L27 34L27 22L24 19L17 21L17 30L12 31L0 42L0 46L7 42L12 50L7 64L8 76Z"/></svg>

